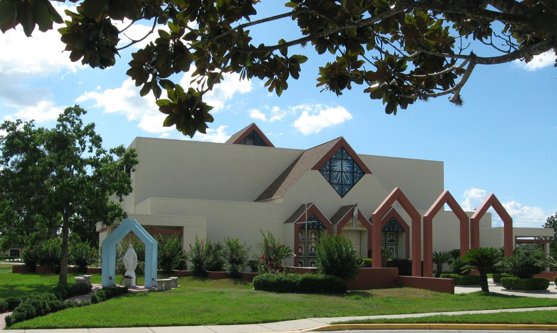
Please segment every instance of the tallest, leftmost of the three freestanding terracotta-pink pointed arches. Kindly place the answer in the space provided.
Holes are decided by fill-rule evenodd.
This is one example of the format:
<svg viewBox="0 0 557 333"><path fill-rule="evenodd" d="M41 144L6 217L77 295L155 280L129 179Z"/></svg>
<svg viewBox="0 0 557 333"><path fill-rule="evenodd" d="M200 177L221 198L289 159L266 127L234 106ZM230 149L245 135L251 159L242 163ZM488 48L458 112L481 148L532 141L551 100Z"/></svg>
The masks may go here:
<svg viewBox="0 0 557 333"><path fill-rule="evenodd" d="M422 217L410 200L395 187L372 214L372 221L381 221L390 207L398 202L412 219L412 276L422 276ZM381 267L381 223L372 224L372 266Z"/></svg>

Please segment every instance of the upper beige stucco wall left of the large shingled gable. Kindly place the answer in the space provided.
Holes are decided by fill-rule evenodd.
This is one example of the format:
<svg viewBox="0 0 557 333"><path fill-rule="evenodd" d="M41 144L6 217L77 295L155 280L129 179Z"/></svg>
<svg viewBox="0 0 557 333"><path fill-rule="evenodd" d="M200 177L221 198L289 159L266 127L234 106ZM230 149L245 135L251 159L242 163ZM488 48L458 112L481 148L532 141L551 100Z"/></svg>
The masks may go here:
<svg viewBox="0 0 557 333"><path fill-rule="evenodd" d="M153 138L136 138L130 146L139 159L134 203L151 197L253 201L302 153Z"/></svg>

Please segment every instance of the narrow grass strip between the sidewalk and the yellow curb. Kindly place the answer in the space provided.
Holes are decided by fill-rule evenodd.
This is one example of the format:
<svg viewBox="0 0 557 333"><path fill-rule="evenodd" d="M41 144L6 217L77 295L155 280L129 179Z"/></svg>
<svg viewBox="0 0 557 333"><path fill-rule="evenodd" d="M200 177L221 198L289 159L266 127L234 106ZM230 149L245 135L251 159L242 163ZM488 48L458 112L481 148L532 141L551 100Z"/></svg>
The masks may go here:
<svg viewBox="0 0 557 333"><path fill-rule="evenodd" d="M419 318L350 320L333 324L557 324L557 311L500 312L497 314L438 315Z"/></svg>

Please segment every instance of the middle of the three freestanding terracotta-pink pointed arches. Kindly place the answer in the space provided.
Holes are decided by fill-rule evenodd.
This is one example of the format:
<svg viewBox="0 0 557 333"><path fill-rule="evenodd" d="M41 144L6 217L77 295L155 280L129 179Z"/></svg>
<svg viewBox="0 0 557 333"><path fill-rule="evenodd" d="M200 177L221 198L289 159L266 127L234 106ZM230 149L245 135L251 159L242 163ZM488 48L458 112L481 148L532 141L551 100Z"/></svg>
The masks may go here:
<svg viewBox="0 0 557 333"><path fill-rule="evenodd" d="M439 195L439 198L423 216L423 275L427 277L433 274L433 218L444 204L449 205L458 221L460 221L460 255L464 256L468 252L468 239L470 237L468 216L452 194L446 190Z"/></svg>

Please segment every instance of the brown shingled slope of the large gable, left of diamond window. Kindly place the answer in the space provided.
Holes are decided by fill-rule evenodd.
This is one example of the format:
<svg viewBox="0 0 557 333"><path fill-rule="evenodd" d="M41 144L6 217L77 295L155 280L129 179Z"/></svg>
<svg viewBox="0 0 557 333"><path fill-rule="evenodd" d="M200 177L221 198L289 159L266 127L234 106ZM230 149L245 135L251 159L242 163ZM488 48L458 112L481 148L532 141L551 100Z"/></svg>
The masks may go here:
<svg viewBox="0 0 557 333"><path fill-rule="evenodd" d="M336 138L305 150L255 201L285 195L339 140L340 138Z"/></svg>

